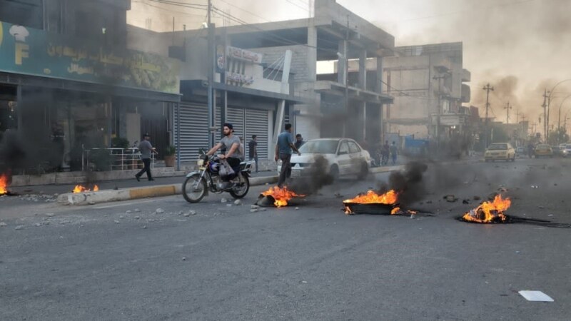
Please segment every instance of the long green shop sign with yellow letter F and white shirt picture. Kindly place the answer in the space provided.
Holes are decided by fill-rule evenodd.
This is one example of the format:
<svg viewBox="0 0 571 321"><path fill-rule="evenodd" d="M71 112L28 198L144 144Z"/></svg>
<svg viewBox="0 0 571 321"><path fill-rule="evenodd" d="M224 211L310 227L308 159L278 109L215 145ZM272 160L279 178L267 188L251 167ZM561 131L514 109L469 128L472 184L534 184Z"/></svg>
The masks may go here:
<svg viewBox="0 0 571 321"><path fill-rule="evenodd" d="M176 59L0 21L0 71L179 93Z"/></svg>

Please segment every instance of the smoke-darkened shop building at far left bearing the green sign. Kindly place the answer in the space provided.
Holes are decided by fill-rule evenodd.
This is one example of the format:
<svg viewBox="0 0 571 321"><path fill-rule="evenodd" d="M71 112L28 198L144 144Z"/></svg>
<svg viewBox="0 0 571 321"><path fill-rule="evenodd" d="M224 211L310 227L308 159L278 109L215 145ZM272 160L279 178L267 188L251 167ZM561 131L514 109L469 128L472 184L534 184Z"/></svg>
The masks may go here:
<svg viewBox="0 0 571 321"><path fill-rule="evenodd" d="M0 118L11 120L0 128L17 133L21 170L81 170L93 148L143 132L158 151L172 143L180 61L128 49L130 6L0 0Z"/></svg>

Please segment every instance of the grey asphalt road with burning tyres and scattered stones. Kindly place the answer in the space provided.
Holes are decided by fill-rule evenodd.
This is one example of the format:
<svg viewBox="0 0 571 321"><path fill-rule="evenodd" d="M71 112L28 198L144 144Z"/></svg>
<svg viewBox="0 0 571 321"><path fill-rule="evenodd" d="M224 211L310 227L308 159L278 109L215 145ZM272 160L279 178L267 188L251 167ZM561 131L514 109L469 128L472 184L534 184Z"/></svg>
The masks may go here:
<svg viewBox="0 0 571 321"><path fill-rule="evenodd" d="M571 229L455 218L477 205L461 200L505 188L508 215L571 223L570 170L568 160L430 165L423 199L409 205L415 219L340 210L335 193L386 174L257 213L249 204L267 186L231 206L226 195L0 202L0 319L568 320ZM449 193L459 201L445 202Z"/></svg>

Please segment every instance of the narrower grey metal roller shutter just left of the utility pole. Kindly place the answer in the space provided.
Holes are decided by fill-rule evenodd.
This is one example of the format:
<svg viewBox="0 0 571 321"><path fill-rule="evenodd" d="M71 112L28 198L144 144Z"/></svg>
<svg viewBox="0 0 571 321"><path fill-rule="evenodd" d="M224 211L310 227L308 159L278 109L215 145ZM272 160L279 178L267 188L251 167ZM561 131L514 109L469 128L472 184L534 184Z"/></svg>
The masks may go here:
<svg viewBox="0 0 571 321"><path fill-rule="evenodd" d="M181 103L181 161L195 161L198 149L208 148L208 109L206 106ZM178 133L174 108L175 141Z"/></svg>

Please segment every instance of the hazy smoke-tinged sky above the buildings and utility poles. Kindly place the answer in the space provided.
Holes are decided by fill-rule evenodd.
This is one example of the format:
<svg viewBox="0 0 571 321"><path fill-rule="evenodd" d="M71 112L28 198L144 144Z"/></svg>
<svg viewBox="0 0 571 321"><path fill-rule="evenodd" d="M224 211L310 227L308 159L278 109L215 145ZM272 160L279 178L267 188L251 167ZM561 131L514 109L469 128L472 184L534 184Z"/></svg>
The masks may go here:
<svg viewBox="0 0 571 321"><path fill-rule="evenodd" d="M172 0L175 1L175 0ZM176 0L206 4L206 0ZM216 8L248 23L307 18L312 0L213 0ZM397 46L462 41L464 68L472 73L470 105L484 116L486 83L490 115L510 123L522 117L537 123L542 117L542 94L559 81L552 93L551 120L561 106L571 118L571 0L337 0L338 4L395 36ZM133 0L128 21L152 29L196 29L205 20L203 9L165 6L153 0ZM160 21L162 19L162 21ZM148 23L148 21L146 21ZM216 24L224 21L215 18ZM236 23L233 23L236 24ZM159 30L162 29L162 30ZM555 111L555 113L554 113ZM543 119L541 120L543 121ZM561 121L563 123L563 120ZM571 119L570 119L571 122Z"/></svg>

